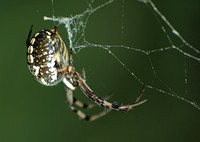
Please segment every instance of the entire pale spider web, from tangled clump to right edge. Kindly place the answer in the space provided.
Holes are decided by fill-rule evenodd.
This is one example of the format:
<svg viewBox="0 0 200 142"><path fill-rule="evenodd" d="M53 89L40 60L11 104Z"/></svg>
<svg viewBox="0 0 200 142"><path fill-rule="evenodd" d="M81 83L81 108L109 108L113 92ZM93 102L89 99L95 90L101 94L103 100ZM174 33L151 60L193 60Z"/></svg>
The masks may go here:
<svg viewBox="0 0 200 142"><path fill-rule="evenodd" d="M167 44L164 44L164 46L160 46L159 48L153 48L150 50L146 50L149 48L136 48L135 46L127 46L124 44L119 45L111 45L111 44L98 44L98 43L92 43L88 40L86 40L85 31L88 26L88 21L91 15L93 15L95 12L99 10L103 10L105 7L114 4L116 1L114 0L108 0L104 1L101 4L98 4L97 6L94 6L96 3L95 0L92 0L89 3L88 8L83 11L80 14L77 14L75 16L69 16L69 17L55 17L54 12L52 17L46 17L44 16L44 20L50 20L55 23L58 23L58 25L64 25L67 31L67 37L69 41L70 48L73 49L73 52L75 54L79 53L81 50L84 50L85 48L101 48L109 53L112 57L114 57L115 60L123 67L125 68L128 73L137 80L137 82L141 85L145 85L146 88L154 90L158 92L159 94L165 94L172 97L175 97L179 100L182 100L192 106L194 106L197 109L200 109L200 106L198 104L198 85L193 87L192 86L192 80L190 73L190 62L199 63L200 62L200 51L193 47L190 43L188 43L181 34L173 27L173 25L167 20L167 18L159 11L159 9L154 5L154 3L151 0L138 0L138 3L141 3L148 7L151 11L151 14L155 17L156 23L160 26L161 32L164 35L164 40L167 41ZM125 6L125 0L121 1L122 5L122 15L121 15L121 34L125 32L124 28L125 24L123 22L124 20L124 6ZM53 1L52 1L53 5ZM148 9L148 10L149 10ZM144 33L145 34L145 33ZM158 41L160 42L160 41ZM162 44L163 45L163 44ZM120 50L127 50L129 53L132 53L134 56L134 53L142 54L142 56L145 56L148 59L148 64L151 68L152 72L152 78L150 78L148 81L143 79L141 75L138 75L136 71L134 71L130 65L126 64L121 56L116 54L113 49L120 49ZM156 62L157 55L162 56L163 54L167 54L167 61L169 60L170 64L173 64L173 61L171 60L171 54L178 54L181 55L183 58L180 61L180 64L183 65L183 70L181 73L183 73L182 78L182 87L181 91L176 88L176 82L168 83L165 81L165 77L160 75L160 68ZM126 55L125 55L126 56ZM158 59L159 60L159 59ZM172 61L172 62L171 62ZM160 66L164 67L166 61L161 61ZM198 64L199 66L199 64ZM176 69L175 69L176 70ZM169 74L166 74L164 76L170 76ZM173 76L174 77L174 76ZM175 76L176 78L176 76ZM176 80L176 79L175 79ZM178 83L178 82L177 82ZM198 83L198 82L197 82ZM159 84L159 85L158 85ZM173 84L173 85L172 85ZM195 90L195 91L191 91Z"/></svg>

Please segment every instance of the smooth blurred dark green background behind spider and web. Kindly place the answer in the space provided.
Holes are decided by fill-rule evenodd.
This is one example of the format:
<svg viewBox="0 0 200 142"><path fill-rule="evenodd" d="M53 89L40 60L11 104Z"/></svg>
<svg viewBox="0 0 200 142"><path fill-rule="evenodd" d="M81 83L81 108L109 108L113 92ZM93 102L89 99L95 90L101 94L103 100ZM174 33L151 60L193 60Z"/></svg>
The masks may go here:
<svg viewBox="0 0 200 142"><path fill-rule="evenodd" d="M200 1L153 2L199 50ZM64 85L42 86L27 67L25 41L30 25L34 25L33 33L54 27L53 22L43 21L43 16L52 16L51 0L2 0L0 3L0 142L199 141L200 110L152 89L147 89L142 98L148 101L128 113L112 111L94 122L80 120L66 104ZM87 0L55 0L53 5L55 16L67 17L82 13L88 6ZM58 30L68 45L64 27L58 26ZM116 0L92 14L86 39L92 43L123 44L142 50L170 46L152 11L135 0ZM148 56L124 49L113 50L113 53L143 82L151 84L155 76ZM103 49L86 48L73 58L76 70L81 72L85 68L88 85L100 97L112 94L110 101L127 104L142 89L142 85ZM200 103L199 62L173 50L151 54L150 58L157 76L173 91ZM162 88L162 83L152 86L169 92L168 87ZM74 95L89 102L79 88ZM86 112L98 111L102 109Z"/></svg>

